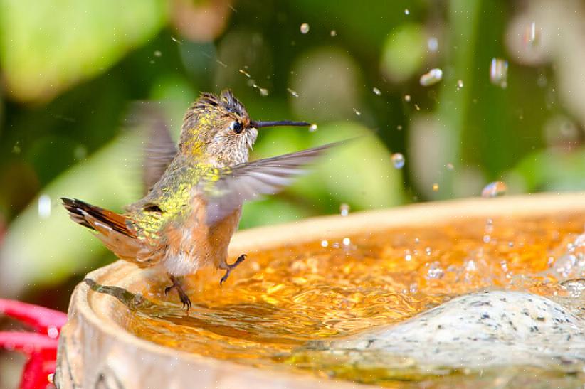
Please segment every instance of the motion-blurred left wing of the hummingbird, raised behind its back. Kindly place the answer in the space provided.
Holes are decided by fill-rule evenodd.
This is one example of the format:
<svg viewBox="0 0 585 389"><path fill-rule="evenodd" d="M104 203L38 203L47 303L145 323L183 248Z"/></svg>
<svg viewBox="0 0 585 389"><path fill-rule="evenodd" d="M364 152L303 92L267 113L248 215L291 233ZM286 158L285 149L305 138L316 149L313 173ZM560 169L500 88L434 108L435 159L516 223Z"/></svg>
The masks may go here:
<svg viewBox="0 0 585 389"><path fill-rule="evenodd" d="M141 111L146 115L149 127L142 171L144 190L148 193L167 170L177 150L162 112L152 105L141 107Z"/></svg>

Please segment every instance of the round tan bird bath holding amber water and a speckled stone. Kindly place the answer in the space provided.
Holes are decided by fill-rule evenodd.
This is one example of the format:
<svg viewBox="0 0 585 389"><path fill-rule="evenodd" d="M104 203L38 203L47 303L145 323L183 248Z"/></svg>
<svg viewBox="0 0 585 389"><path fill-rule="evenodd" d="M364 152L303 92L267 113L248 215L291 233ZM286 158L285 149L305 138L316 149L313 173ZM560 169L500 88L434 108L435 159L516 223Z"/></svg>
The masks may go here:
<svg viewBox="0 0 585 389"><path fill-rule="evenodd" d="M56 383L575 385L585 366L584 230L583 193L245 230L230 256L248 260L223 287L211 270L189 279L188 314L175 294L160 294L166 277L115 262L73 293ZM484 353L494 342L501 353Z"/></svg>

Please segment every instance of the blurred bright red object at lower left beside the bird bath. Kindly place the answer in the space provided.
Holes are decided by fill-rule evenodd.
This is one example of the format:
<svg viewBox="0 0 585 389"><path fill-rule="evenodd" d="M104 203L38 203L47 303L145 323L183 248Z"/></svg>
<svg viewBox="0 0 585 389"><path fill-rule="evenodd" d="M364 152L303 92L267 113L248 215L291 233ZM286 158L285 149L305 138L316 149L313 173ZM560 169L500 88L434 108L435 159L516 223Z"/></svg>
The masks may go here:
<svg viewBox="0 0 585 389"><path fill-rule="evenodd" d="M33 304L0 299L0 314L17 319L37 332L0 331L0 347L28 356L21 389L47 388L48 376L55 373L57 346L67 315Z"/></svg>

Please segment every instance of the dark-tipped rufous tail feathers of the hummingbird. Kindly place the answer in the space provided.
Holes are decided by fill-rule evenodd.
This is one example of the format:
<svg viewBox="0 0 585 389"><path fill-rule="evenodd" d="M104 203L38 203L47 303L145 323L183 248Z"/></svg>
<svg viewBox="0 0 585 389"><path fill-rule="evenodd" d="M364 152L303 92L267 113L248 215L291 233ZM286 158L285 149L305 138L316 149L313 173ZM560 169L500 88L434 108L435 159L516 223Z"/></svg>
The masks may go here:
<svg viewBox="0 0 585 389"><path fill-rule="evenodd" d="M64 197L61 200L63 201L63 206L69 212L71 220L75 223L90 228L91 230L97 230L96 223L99 222L118 233L127 235L130 238L136 238L135 232L129 228L126 223L127 219L123 215L92 206L77 198Z"/></svg>

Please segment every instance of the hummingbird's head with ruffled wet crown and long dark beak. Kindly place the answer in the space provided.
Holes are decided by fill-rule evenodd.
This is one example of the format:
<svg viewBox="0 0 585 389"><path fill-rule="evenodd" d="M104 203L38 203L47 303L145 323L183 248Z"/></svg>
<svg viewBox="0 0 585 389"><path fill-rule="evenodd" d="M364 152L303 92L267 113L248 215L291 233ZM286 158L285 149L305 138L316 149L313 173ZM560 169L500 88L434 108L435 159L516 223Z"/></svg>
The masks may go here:
<svg viewBox="0 0 585 389"><path fill-rule="evenodd" d="M194 159L206 159L214 166L233 166L248 161L258 129L273 126L308 126L306 122L258 122L233 95L201 93L185 114L179 151Z"/></svg>

